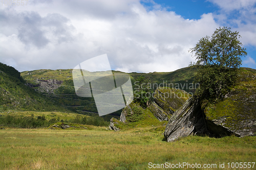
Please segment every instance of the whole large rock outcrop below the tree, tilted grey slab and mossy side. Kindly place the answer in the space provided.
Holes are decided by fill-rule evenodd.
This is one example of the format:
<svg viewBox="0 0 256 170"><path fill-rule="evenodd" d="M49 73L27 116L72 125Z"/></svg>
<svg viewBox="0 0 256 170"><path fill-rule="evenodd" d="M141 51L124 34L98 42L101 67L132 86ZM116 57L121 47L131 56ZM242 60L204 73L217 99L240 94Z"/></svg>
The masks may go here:
<svg viewBox="0 0 256 170"><path fill-rule="evenodd" d="M190 98L174 112L166 125L164 137L206 134L212 137L256 135L256 74L242 71L236 86L224 99L209 103ZM203 109L201 104L204 105Z"/></svg>

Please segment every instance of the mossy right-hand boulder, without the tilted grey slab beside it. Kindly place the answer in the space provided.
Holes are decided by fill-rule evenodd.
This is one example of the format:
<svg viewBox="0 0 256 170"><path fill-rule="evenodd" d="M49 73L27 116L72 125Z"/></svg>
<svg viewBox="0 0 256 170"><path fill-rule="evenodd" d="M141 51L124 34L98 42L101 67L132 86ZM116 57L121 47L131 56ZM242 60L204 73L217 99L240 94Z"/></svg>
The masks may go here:
<svg viewBox="0 0 256 170"><path fill-rule="evenodd" d="M212 123L237 136L256 135L256 74L242 71L236 86L222 100L207 104L204 113ZM216 129L215 129L216 131Z"/></svg>

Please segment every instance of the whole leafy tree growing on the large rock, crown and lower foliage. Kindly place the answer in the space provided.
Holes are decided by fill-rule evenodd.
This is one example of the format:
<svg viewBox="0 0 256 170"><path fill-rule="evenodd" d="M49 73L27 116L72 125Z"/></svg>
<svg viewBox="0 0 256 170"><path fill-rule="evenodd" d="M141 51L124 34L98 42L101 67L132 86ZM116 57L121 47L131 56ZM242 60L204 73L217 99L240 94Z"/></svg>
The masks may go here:
<svg viewBox="0 0 256 170"><path fill-rule="evenodd" d="M245 48L239 41L239 32L230 28L216 29L211 37L201 38L189 52L196 58L198 67L195 83L200 83L196 94L203 98L219 98L236 82Z"/></svg>

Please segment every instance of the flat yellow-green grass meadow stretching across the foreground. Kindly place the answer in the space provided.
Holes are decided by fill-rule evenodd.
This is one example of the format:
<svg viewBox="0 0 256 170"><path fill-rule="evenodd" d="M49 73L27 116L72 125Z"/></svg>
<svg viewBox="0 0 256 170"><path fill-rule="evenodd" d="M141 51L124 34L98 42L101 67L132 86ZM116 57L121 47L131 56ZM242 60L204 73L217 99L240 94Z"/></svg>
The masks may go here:
<svg viewBox="0 0 256 170"><path fill-rule="evenodd" d="M220 162L225 162L228 169L228 162L256 161L256 136L188 136L167 143L154 128L119 132L105 127L79 131L6 128L0 130L0 169L154 169L148 167L149 162L217 164L208 169L221 169Z"/></svg>

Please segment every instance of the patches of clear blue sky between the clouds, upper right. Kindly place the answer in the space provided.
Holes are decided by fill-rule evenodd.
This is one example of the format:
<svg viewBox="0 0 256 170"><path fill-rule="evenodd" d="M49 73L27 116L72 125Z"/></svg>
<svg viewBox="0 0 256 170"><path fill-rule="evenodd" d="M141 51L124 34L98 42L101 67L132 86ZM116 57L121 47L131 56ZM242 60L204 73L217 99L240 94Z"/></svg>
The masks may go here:
<svg viewBox="0 0 256 170"><path fill-rule="evenodd" d="M180 1L164 1L164 0L157 0L154 1L155 3L162 6L162 8L166 8L167 11L175 11L176 14L181 15L181 17L185 19L200 19L201 15L204 13L214 13L216 15L219 15L222 12L222 9L214 3L211 3L210 1L197 1L197 0L180 0ZM145 1L142 2L142 4L149 9L153 9L154 3ZM253 1L250 2L251 6L255 7L255 1L253 4ZM254 13L255 14L255 13ZM233 11L229 11L227 13L228 18L227 19L237 19L240 16L240 10L236 9ZM253 17L253 16L251 16ZM255 17L255 15L254 15ZM216 19L218 22L218 19ZM254 19L255 21L255 19ZM241 20L241 22L244 22L246 24L246 20ZM255 23L255 22L254 22ZM232 28L232 31L237 31L236 28L238 27L234 23L230 23L227 21L226 25L222 24L220 26L224 27L230 27ZM255 39L256 41L256 39ZM243 59L243 67L250 67L256 69L255 61L256 61L256 47L253 45L244 45L247 52L247 57L242 58ZM251 59L248 59L250 57Z"/></svg>

